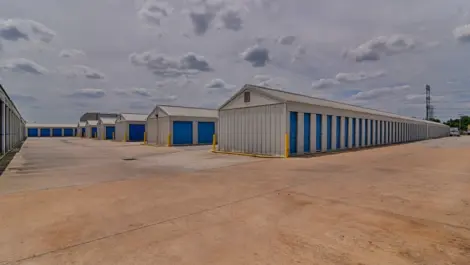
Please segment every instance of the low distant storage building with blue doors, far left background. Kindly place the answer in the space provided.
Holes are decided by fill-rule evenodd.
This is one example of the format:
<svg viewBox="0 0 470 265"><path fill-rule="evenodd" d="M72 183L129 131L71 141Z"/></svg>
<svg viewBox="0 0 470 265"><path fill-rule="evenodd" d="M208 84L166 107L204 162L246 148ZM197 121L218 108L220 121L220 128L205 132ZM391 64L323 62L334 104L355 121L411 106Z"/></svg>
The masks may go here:
<svg viewBox="0 0 470 265"><path fill-rule="evenodd" d="M38 124L27 123L28 137L74 137L75 124Z"/></svg>

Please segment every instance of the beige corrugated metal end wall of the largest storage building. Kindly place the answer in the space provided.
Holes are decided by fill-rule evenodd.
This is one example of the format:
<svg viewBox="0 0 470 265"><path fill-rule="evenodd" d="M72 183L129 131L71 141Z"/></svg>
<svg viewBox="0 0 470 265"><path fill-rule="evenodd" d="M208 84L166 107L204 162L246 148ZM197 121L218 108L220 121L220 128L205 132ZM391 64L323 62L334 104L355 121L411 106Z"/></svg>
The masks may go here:
<svg viewBox="0 0 470 265"><path fill-rule="evenodd" d="M283 156L286 123L285 104L221 110L218 149Z"/></svg>

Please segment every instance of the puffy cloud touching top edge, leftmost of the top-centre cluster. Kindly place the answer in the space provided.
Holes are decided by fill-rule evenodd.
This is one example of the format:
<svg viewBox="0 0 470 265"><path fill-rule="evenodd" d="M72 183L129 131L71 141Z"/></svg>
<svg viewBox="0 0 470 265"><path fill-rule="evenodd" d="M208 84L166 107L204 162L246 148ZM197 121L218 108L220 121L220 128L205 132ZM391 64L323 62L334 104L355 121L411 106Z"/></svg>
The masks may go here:
<svg viewBox="0 0 470 265"><path fill-rule="evenodd" d="M139 18L148 25L160 26L163 18L168 17L173 8L163 1L148 0L138 12Z"/></svg>

